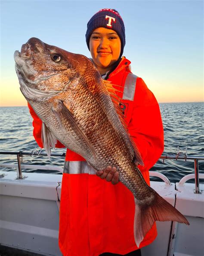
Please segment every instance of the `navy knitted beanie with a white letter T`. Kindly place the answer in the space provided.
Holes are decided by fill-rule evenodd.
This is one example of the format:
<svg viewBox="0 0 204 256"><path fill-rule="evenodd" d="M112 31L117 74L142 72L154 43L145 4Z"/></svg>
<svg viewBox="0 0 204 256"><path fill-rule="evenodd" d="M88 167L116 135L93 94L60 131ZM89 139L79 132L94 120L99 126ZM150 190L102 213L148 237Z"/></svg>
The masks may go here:
<svg viewBox="0 0 204 256"><path fill-rule="evenodd" d="M102 9L91 17L90 21L87 23L86 33L86 41L89 50L89 41L93 30L101 27L117 32L117 35L121 39L121 57L125 46L125 26L120 14L114 9Z"/></svg>

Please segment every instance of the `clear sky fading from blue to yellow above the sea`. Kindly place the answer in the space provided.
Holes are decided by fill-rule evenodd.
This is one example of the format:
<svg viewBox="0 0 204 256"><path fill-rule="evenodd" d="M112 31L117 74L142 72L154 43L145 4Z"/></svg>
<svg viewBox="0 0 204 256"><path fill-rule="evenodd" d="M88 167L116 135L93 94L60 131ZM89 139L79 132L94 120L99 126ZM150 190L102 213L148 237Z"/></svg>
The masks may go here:
<svg viewBox="0 0 204 256"><path fill-rule="evenodd" d="M26 106L13 53L31 37L86 55L87 22L116 9L126 29L124 56L158 102L200 102L203 86L203 1L0 0L0 106Z"/></svg>

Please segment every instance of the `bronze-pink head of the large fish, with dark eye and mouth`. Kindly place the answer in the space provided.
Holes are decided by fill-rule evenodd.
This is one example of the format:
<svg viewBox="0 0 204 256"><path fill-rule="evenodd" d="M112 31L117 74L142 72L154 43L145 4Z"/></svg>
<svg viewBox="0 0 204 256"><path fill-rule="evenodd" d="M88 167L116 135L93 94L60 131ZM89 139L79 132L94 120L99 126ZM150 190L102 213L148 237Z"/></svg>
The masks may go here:
<svg viewBox="0 0 204 256"><path fill-rule="evenodd" d="M87 61L83 57L30 38L14 53L20 90L28 101L63 93L73 78L85 73Z"/></svg>

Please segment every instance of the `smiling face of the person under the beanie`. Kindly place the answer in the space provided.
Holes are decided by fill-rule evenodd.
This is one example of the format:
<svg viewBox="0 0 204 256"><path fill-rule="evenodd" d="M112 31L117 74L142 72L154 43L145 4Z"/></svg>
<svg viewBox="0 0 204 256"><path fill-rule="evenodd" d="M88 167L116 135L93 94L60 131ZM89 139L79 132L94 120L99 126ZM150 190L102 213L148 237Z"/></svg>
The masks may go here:
<svg viewBox="0 0 204 256"><path fill-rule="evenodd" d="M102 74L118 60L121 54L121 39L114 30L95 29L90 37L90 53L93 62Z"/></svg>

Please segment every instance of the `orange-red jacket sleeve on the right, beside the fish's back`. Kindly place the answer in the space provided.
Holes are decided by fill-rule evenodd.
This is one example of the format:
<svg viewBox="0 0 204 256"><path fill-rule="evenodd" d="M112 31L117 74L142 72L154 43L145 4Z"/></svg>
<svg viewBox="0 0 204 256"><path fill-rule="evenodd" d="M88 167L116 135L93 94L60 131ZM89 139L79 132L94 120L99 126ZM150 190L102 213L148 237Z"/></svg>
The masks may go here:
<svg viewBox="0 0 204 256"><path fill-rule="evenodd" d="M141 171L148 171L164 150L164 130L158 102L139 77L128 130L144 162L144 166L138 167Z"/></svg>

